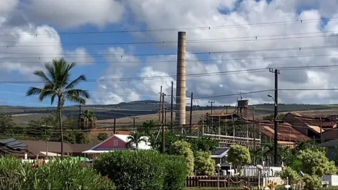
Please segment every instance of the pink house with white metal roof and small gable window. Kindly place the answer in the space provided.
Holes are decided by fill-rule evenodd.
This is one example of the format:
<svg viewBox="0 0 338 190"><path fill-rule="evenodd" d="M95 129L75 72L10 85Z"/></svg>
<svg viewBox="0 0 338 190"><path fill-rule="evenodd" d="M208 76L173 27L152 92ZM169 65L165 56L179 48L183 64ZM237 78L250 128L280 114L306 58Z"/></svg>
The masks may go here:
<svg viewBox="0 0 338 190"><path fill-rule="evenodd" d="M110 152L115 150L132 150L132 149L151 149L149 142L140 142L136 147L135 144L127 147L128 137L130 135L112 135L101 143L93 146L92 148L83 151L87 155L92 155L93 158L100 155L102 152ZM144 137L147 139L147 137Z"/></svg>

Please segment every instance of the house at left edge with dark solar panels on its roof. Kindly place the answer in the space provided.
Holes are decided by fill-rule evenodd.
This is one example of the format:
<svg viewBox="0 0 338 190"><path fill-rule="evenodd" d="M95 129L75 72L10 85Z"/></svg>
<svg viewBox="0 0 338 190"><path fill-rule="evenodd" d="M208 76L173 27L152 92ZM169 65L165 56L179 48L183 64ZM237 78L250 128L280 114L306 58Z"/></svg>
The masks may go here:
<svg viewBox="0 0 338 190"><path fill-rule="evenodd" d="M27 150L27 145L14 138L0 140L0 156L12 155L17 158L25 159L36 158L36 155Z"/></svg>

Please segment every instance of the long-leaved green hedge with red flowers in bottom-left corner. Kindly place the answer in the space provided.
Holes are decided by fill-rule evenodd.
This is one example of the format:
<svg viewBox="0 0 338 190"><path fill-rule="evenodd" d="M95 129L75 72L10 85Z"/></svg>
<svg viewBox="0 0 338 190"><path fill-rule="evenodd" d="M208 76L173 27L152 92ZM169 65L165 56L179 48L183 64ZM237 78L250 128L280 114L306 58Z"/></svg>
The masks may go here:
<svg viewBox="0 0 338 190"><path fill-rule="evenodd" d="M52 160L32 165L22 164L14 157L2 157L0 189L115 189L115 186L79 160Z"/></svg>

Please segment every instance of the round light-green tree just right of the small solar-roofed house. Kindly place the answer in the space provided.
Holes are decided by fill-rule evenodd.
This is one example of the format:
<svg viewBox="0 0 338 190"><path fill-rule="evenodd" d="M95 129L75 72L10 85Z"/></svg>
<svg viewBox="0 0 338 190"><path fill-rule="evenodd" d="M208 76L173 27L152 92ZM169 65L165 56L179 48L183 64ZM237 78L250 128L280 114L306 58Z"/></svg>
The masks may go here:
<svg viewBox="0 0 338 190"><path fill-rule="evenodd" d="M231 145L228 150L227 161L237 166L237 172L240 172L242 170L242 166L251 163L249 149L241 145Z"/></svg>

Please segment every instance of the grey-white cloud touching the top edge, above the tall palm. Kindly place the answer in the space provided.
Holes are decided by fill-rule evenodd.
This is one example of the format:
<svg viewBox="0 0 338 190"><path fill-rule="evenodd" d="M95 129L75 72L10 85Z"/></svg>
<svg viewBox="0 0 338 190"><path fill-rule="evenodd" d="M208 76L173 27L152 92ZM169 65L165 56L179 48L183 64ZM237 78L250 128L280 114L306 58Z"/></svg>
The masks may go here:
<svg viewBox="0 0 338 190"><path fill-rule="evenodd" d="M119 22L124 7L116 0L29 0L26 11L34 22L66 28L86 24L103 27Z"/></svg>

